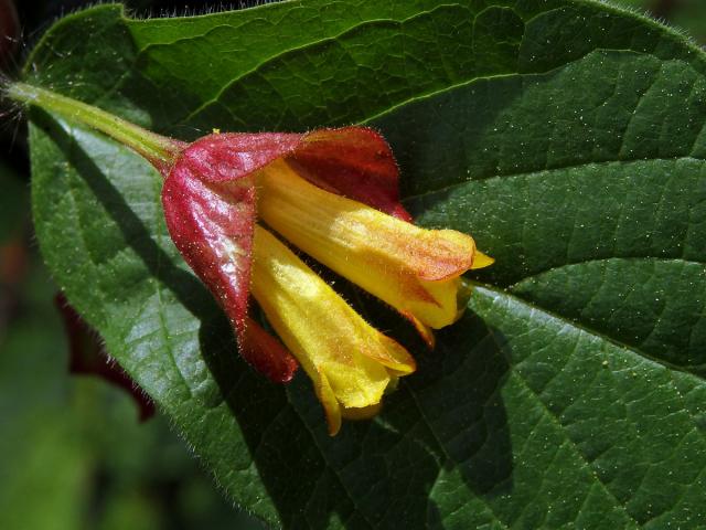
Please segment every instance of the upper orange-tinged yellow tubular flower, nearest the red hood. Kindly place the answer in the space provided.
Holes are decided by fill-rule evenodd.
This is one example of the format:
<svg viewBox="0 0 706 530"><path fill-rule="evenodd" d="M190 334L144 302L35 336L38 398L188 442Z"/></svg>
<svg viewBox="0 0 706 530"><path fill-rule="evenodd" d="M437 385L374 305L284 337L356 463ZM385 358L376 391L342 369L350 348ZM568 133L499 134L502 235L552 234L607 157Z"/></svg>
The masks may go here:
<svg viewBox="0 0 706 530"><path fill-rule="evenodd" d="M258 213L322 264L396 308L428 338L456 321L460 275L493 263L473 239L425 230L324 191L285 160L257 177Z"/></svg>

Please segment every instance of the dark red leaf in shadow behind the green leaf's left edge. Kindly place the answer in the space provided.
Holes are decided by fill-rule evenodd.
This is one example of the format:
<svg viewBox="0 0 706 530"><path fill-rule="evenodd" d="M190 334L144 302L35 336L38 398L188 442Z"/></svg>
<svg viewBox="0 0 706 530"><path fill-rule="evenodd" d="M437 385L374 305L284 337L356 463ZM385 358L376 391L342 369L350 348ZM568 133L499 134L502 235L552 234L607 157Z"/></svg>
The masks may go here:
<svg viewBox="0 0 706 530"><path fill-rule="evenodd" d="M110 360L98 332L81 318L62 293L54 298L68 337L71 373L96 375L128 392L139 407L140 422L154 415L154 403L130 377Z"/></svg>

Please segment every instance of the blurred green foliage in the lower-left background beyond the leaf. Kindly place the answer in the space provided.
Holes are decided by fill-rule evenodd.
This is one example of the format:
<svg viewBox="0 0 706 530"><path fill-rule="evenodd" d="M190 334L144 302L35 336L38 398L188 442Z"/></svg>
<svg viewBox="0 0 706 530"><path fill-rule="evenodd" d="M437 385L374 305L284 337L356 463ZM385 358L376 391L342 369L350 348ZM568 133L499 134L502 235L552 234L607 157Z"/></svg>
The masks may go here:
<svg viewBox="0 0 706 530"><path fill-rule="evenodd" d="M3 206L12 192L26 218L24 187L2 174ZM126 392L68 375L47 272L21 230L2 252L0 528L261 528L232 509L163 417L140 424Z"/></svg>

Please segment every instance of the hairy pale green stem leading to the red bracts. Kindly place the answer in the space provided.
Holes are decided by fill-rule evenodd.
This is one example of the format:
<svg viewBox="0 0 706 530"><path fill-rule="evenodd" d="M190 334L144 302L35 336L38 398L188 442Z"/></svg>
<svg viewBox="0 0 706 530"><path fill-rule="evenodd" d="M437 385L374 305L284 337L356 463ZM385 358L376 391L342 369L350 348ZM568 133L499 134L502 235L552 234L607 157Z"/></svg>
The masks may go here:
<svg viewBox="0 0 706 530"><path fill-rule="evenodd" d="M136 150L159 170L171 167L185 146L181 141L157 135L93 105L26 83L8 85L6 94L15 102L36 105L71 121L78 121L99 130Z"/></svg>

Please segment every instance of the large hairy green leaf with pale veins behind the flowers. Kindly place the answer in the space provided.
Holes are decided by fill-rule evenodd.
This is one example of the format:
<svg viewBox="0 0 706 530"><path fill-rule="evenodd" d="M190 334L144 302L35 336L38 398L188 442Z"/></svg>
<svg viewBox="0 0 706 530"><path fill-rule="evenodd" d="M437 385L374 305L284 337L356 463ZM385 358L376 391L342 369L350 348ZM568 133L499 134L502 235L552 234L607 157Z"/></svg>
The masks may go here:
<svg viewBox="0 0 706 530"><path fill-rule="evenodd" d="M33 113L46 262L238 504L297 528L706 523L706 61L685 39L588 0L103 6L29 63L184 139L372 124L419 222L498 259L437 351L413 343L419 370L383 414L329 438L306 378L276 386L237 359L160 177Z"/></svg>

